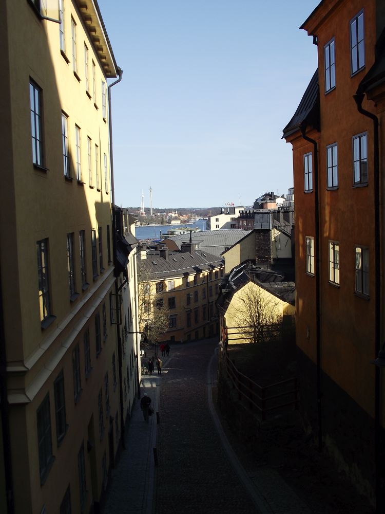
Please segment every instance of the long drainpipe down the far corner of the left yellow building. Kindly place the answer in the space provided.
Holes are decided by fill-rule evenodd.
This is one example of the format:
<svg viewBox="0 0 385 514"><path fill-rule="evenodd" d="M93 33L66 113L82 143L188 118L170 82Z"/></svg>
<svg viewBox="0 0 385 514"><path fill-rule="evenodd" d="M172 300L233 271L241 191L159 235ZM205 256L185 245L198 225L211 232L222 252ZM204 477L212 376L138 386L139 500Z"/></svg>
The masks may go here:
<svg viewBox="0 0 385 514"><path fill-rule="evenodd" d="M118 84L122 80L123 76L123 70L117 67L117 74L118 74L118 80L115 80L112 82L112 84L109 84L108 86L108 129L109 129L109 142L110 142L110 175L111 175L111 209L112 209L112 251L113 251L113 264L114 267L116 267L116 256L117 256L117 250L116 250L116 223L115 223L115 191L114 191L114 180L113 180L113 155L112 155L112 111L111 111L111 87L115 84ZM115 301L118 301L118 279L115 278ZM117 307L115 305L115 307ZM119 306L120 308L120 306ZM122 439L122 446L123 449L126 448L125 446L125 437L124 437L124 405L123 405L123 383L122 383L122 365L123 365L123 359L122 359L122 341L120 338L120 325L117 325L117 341L118 341L118 372L119 372L119 400L120 400L120 426L121 426L121 439Z"/></svg>

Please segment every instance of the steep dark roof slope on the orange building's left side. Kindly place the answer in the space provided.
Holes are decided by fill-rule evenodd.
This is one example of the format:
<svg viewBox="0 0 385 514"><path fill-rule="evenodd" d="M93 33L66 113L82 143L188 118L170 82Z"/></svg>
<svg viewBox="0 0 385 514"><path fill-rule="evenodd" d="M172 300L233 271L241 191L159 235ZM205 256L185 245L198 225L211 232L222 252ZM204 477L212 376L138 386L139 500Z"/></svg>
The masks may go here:
<svg viewBox="0 0 385 514"><path fill-rule="evenodd" d="M318 68L316 69L312 80L306 87L302 100L299 102L293 118L287 123L283 129L283 138L290 136L300 126L305 123L318 129L319 127L319 88L318 88Z"/></svg>

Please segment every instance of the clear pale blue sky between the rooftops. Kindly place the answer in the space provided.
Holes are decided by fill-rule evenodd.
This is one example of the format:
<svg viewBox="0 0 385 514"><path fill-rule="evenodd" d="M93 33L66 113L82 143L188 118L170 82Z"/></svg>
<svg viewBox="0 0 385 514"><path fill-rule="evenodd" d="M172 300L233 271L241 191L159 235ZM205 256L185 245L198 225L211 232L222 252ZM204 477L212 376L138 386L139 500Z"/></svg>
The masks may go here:
<svg viewBox="0 0 385 514"><path fill-rule="evenodd" d="M115 203L252 205L293 186L282 129L317 67L318 0L98 0L115 59Z"/></svg>

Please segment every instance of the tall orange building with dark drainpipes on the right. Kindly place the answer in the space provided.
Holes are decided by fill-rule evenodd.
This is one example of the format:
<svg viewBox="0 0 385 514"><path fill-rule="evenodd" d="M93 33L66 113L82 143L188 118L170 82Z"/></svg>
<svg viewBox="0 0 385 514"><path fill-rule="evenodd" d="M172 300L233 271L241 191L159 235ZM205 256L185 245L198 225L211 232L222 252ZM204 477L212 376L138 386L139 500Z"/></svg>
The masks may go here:
<svg viewBox="0 0 385 514"><path fill-rule="evenodd" d="M384 25L380 0L318 5L301 27L317 44L318 69L283 130L293 145L304 419L378 509L384 419L371 360L382 340Z"/></svg>

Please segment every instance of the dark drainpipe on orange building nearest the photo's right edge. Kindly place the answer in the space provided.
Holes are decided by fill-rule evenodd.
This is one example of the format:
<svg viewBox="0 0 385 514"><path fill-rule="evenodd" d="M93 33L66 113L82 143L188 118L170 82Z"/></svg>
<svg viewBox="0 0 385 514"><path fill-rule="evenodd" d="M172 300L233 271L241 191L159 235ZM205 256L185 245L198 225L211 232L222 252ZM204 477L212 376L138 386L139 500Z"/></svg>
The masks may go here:
<svg viewBox="0 0 385 514"><path fill-rule="evenodd" d="M375 261L375 301L374 301L374 353L377 357L381 348L381 263L380 263L380 174L379 174L379 144L378 118L373 113L362 108L363 93L353 95L360 114L373 120L373 181L374 181L374 261ZM376 512L381 512L381 412L380 412L380 371L375 366L374 379L374 433L375 433L375 475L376 475Z"/></svg>

